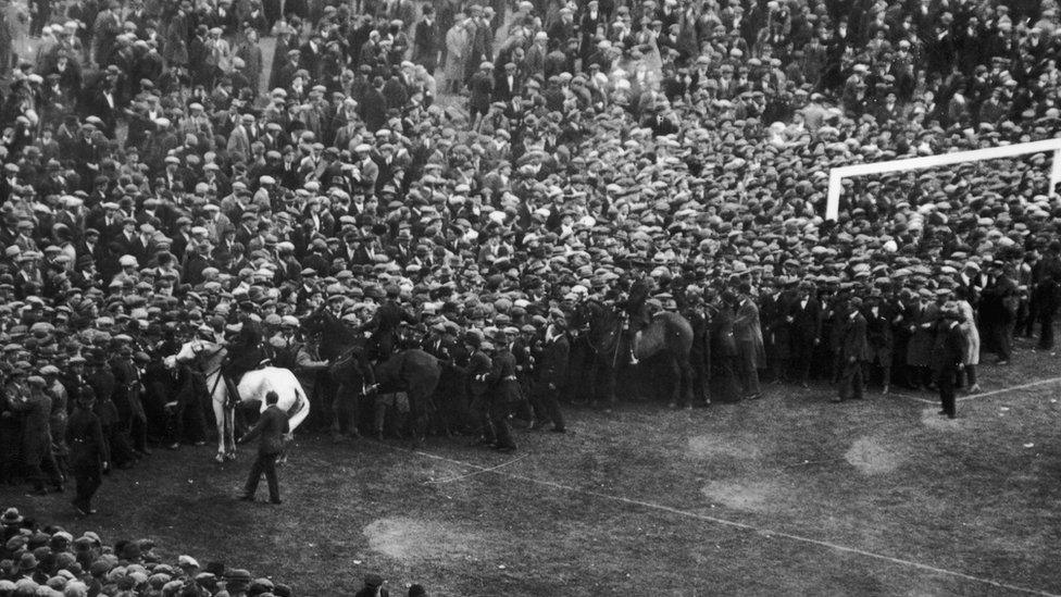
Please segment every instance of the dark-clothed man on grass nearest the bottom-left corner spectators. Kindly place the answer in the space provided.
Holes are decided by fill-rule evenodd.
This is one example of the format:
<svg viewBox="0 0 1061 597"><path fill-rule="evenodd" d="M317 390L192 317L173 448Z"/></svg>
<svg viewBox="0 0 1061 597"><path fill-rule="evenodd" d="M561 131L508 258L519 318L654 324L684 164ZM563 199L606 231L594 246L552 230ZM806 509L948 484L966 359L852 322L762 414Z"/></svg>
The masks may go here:
<svg viewBox="0 0 1061 597"><path fill-rule="evenodd" d="M85 386L87 388L87 386ZM79 394L74 412L66 422L66 444L70 446L70 465L77 484L73 505L83 517L95 513L92 496L103 483L103 471L110 459L103 427L92 412L96 397L91 389Z"/></svg>

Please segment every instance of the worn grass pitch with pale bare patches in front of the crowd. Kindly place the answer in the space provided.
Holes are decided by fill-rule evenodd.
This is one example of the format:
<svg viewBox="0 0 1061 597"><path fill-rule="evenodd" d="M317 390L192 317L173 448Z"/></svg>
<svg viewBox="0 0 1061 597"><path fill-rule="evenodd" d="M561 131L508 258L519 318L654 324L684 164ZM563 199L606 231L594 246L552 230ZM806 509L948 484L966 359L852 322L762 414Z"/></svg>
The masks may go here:
<svg viewBox="0 0 1061 597"><path fill-rule="evenodd" d="M70 492L0 501L303 596L352 595L370 571L392 595L1057 594L1061 366L1013 362L982 366L987 395L953 422L928 394L834 405L824 385L773 386L691 411L576 410L571 434L517 432L515 455L301 436L278 507L235 500L250 450L219 465L210 447L115 472L84 521Z"/></svg>

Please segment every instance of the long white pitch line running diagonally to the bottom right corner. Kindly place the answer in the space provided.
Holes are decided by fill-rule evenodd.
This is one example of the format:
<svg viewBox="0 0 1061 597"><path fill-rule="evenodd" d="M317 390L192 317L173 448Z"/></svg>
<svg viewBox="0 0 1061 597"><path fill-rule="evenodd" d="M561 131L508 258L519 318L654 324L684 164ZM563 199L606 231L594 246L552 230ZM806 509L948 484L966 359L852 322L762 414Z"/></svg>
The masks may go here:
<svg viewBox="0 0 1061 597"><path fill-rule="evenodd" d="M1059 378L1059 380L1061 380L1061 378ZM954 572L953 570L947 570L947 569L944 569L944 568L936 568L934 565L928 565L928 564L924 564L924 563L921 563L921 562L914 562L914 561L911 561L911 560L903 560L901 558L893 558L891 556L885 556L885 555L882 555L882 554L874 554L873 551L866 551L864 549L859 549L857 547L848 547L848 546L845 546L845 545L839 545L839 544L829 543L829 542L826 542L826 540L815 539L815 538L812 538L812 537L804 537L802 535L796 535L796 534L792 534L792 533L785 533L785 532L781 532L781 531L773 531L771 528L764 528L764 527L761 527L761 526L754 526L752 524L747 524L747 523L742 523L742 522L737 522L737 521L732 521L732 520L726 520L726 519L720 519L717 517L709 517L707 514L700 514L700 513L697 513L697 512L689 512L688 510L679 510L677 508L672 508L670 506L663 506L662 503L654 503L654 502L651 502L651 501L642 501L642 500L639 500L639 499L632 499L632 498L627 498L627 497L623 497L623 496L615 496L615 495L612 495L612 494L604 494L604 493L600 493L600 492L594 492L594 490L590 490L590 489L579 489L577 487L572 487L570 485L564 485L562 483L557 483L557 482L553 482L553 481L542 481L540 478L534 478L534 477L529 477L529 476L525 476L525 475L508 473L508 472L504 472L504 471L497 470L497 467L494 467L494 468L482 467L479 464L474 464L472 462L465 462L463 460L457 460L457 459L452 459L452 458L447 458L445 456L439 456L439 455L435 455L435 453L430 453L430 452L425 452L425 451L420 451L420 450L409 450L409 449L400 448L400 447L397 447L397 446L392 446L392 448L396 449L396 450L412 452L412 453L415 453L417 456L422 456L424 458L430 458L430 459L439 460L439 461L442 461L442 462L449 462L451 464L460 464L462 467L469 467L469 468L472 468L472 469L476 469L476 470L478 470L478 472L483 472L483 473L490 472L490 473L494 473L496 475L507 476L509 478L515 478L515 480L520 480L520 481L526 481L528 483L534 483L536 485L541 485L544 487L551 487L553 489L559 489L561 492L569 492L569 493L581 494L581 495L590 496L590 497L598 497L598 498L601 498L601 499L610 499L612 501L619 501L621 503L626 503L628 506L638 506L638 507L647 508L647 509L650 509L650 510L658 510L658 511L661 511L661 512L667 512L667 513L671 513L671 514L676 514L676 515L679 515L679 517L695 519L695 520L699 520L699 521L703 521L703 522L710 522L710 523L719 524L719 525L722 525L722 526L731 526L731 527L740 528L740 530L744 530L744 531L752 531L752 532L760 533L762 535L767 535L767 536L773 535L773 536L776 536L776 537L784 537L786 539L790 539L790 540L798 542L798 543L816 545L819 547L825 547L827 549L833 549L833 550L836 550L836 551L842 551L842 552L846 552L846 554L854 554L857 556L862 556L862 557L865 557L865 558L872 558L872 559L875 559L875 560L881 560L881 561L885 561L885 562L889 562L889 563L894 563L894 564L898 564L898 565L906 565L906 567L910 567L910 568L915 568L915 569L919 569L919 570L924 570L926 572L934 572L936 574L943 574L943 575L946 575L946 576L953 576L956 579L963 579L965 581L972 581L972 582L976 582L976 583L982 583L982 584L990 585L990 586L998 587L998 588L1004 588L1007 590L1014 590L1014 592L1024 593L1024 594L1027 594L1027 595L1041 595L1044 597L1061 597L1061 595L1058 595L1058 594L1054 594L1054 593L1048 593L1046 590L1040 590L1040 589L1037 589L1037 588L1028 588L1028 587L1023 587L1023 586L1018 586L1018 585L1011 585L1011 584L1008 584L1008 583L1002 583L1002 582L995 581L995 580L991 580L991 579L984 579L984 577L981 577L981 576L973 576L971 574L965 574L963 572Z"/></svg>

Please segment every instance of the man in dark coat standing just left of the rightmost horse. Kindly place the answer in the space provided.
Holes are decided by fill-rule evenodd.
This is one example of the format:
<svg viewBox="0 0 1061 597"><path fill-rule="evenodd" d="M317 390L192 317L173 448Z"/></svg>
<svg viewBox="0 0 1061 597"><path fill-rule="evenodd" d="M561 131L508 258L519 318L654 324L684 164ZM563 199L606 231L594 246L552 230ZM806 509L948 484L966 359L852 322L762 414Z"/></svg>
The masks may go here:
<svg viewBox="0 0 1061 597"><path fill-rule="evenodd" d="M538 345L535 356L535 381L530 393L534 406L535 421L533 428L545 426L552 422L556 433L564 433L563 413L560 412L560 388L567 375L567 356L571 343L567 340L567 319L560 309L551 309L549 315L552 323L546 328L546 335Z"/></svg>

